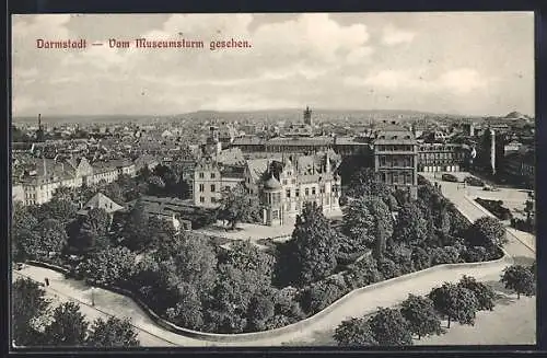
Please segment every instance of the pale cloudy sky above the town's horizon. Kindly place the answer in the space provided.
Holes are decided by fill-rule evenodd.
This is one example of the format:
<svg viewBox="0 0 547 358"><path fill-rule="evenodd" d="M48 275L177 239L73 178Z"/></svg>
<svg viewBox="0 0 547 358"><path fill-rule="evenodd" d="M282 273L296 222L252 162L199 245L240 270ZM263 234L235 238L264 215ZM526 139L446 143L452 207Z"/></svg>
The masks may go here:
<svg viewBox="0 0 547 358"><path fill-rule="evenodd" d="M36 39L86 39L85 49ZM108 39L130 41L109 48ZM135 38L202 41L142 49ZM211 50L211 41L249 48ZM100 42L103 46L91 46ZM12 18L12 113L270 108L534 114L534 15L39 14Z"/></svg>

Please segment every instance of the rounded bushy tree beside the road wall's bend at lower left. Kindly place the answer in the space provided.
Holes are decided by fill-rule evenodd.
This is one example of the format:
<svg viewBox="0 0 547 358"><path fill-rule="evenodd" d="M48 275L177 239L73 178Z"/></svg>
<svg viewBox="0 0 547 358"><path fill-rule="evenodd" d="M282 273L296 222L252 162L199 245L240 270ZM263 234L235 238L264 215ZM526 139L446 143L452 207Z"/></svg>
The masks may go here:
<svg viewBox="0 0 547 358"><path fill-rule="evenodd" d="M120 285L133 273L136 254L127 247L98 251L78 265L77 272L100 285Z"/></svg>

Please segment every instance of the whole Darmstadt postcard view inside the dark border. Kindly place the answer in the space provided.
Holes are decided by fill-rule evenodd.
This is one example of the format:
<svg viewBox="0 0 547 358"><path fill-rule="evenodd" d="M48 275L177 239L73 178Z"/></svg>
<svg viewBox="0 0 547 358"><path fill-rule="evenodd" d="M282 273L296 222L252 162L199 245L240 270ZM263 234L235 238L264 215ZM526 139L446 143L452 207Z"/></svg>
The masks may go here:
<svg viewBox="0 0 547 358"><path fill-rule="evenodd" d="M534 22L12 14L10 349L536 345Z"/></svg>

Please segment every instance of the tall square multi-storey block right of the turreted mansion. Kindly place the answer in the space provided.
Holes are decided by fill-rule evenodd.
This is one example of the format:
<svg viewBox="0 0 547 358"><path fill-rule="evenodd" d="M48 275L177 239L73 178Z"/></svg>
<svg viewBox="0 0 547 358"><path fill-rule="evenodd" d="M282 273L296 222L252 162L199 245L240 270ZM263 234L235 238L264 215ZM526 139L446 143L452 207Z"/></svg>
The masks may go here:
<svg viewBox="0 0 547 358"><path fill-rule="evenodd" d="M384 126L374 139L374 170L382 183L418 197L418 142L411 131Z"/></svg>

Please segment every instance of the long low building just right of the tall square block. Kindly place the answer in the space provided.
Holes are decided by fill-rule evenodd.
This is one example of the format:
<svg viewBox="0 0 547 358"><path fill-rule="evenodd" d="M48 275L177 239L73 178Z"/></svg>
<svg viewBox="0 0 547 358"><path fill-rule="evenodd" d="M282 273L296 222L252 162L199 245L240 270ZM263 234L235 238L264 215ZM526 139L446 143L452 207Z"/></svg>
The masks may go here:
<svg viewBox="0 0 547 358"><path fill-rule="evenodd" d="M420 143L418 172L459 172L467 168L470 149L458 143Z"/></svg>

